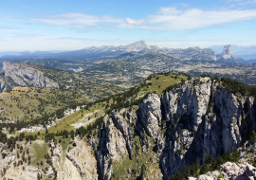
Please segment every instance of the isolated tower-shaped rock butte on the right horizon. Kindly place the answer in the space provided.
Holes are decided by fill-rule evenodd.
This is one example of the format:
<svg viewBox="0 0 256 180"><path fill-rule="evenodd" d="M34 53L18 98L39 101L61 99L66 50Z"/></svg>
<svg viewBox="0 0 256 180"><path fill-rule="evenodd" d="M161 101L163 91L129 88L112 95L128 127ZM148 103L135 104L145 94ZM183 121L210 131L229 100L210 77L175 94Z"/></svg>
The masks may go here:
<svg viewBox="0 0 256 180"><path fill-rule="evenodd" d="M225 45L223 52L217 55L217 60L227 63L246 63L245 60L238 58L237 56L232 54L231 45Z"/></svg>

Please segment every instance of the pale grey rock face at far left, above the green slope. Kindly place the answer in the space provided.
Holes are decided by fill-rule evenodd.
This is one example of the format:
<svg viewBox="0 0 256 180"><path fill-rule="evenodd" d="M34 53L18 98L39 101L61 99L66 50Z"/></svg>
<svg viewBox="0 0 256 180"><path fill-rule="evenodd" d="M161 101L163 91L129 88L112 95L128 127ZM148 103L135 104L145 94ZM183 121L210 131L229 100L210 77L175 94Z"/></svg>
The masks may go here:
<svg viewBox="0 0 256 180"><path fill-rule="evenodd" d="M3 71L6 77L11 78L20 86L59 88L57 82L49 80L41 71L25 64L4 62Z"/></svg>

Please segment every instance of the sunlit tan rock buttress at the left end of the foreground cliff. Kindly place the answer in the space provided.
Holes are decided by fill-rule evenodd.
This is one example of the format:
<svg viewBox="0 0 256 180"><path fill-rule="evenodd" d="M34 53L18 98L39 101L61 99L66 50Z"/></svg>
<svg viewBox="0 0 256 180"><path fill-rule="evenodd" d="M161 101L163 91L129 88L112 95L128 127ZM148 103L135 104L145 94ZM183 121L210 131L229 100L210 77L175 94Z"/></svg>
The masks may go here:
<svg viewBox="0 0 256 180"><path fill-rule="evenodd" d="M129 156L133 157L131 152L134 146L133 135L134 131L120 116L123 113L113 113L112 117L104 117L104 129L101 131L101 138L99 142L92 142L96 149L96 158L98 161L99 178L102 179L105 174L111 177L113 167L110 161L120 161L121 159ZM134 115L130 115L131 122ZM134 117L136 118L136 117ZM98 139L96 139L98 141ZM96 148L98 146L98 148Z"/></svg>

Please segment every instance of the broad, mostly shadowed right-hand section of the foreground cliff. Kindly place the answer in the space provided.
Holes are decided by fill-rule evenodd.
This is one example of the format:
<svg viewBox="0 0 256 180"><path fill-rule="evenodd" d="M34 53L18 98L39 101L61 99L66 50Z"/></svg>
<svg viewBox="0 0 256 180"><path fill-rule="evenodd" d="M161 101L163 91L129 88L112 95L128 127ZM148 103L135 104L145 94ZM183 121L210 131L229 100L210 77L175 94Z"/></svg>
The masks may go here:
<svg viewBox="0 0 256 180"><path fill-rule="evenodd" d="M239 97L225 88L217 90L216 86L210 78L197 78L163 94L165 118L170 119L166 135L168 153L162 156L166 176L192 162L203 163L207 154L217 157L233 152L247 139L246 132L253 129L244 126L255 126L251 122L255 100Z"/></svg>

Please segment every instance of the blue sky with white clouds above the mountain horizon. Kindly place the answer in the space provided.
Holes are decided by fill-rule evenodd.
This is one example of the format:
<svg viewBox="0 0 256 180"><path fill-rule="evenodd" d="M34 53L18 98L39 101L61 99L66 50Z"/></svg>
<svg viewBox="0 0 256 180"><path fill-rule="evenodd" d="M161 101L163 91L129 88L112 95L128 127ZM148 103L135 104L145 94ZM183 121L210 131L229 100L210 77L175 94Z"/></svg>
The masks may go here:
<svg viewBox="0 0 256 180"><path fill-rule="evenodd" d="M256 0L0 0L0 52L256 45Z"/></svg>

